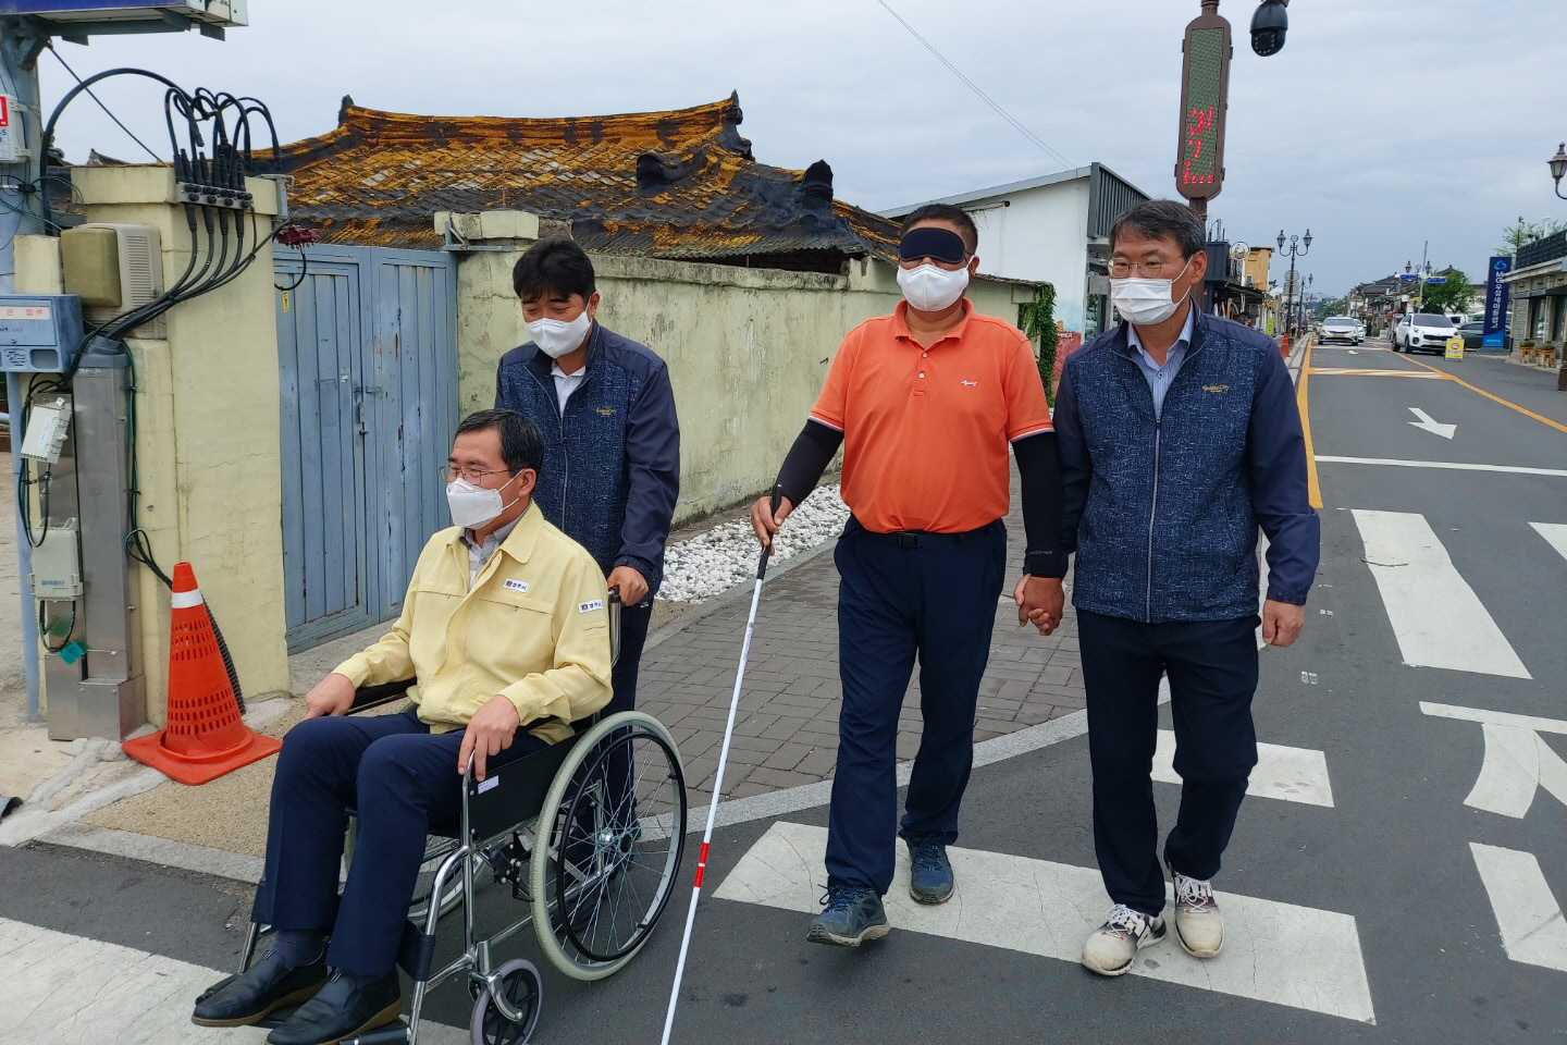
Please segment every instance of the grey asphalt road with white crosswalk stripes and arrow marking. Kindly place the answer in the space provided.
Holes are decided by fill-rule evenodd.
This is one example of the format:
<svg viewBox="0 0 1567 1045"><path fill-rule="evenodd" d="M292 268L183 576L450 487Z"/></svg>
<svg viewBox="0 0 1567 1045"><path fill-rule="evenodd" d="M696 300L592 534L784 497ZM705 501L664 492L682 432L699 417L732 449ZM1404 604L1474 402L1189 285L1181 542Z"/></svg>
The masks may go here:
<svg viewBox="0 0 1567 1045"><path fill-rule="evenodd" d="M1417 373L1434 376L1393 376ZM976 769L953 904L895 907L860 951L804 942L823 807L721 829L675 1040L1567 1039L1567 395L1540 371L1376 345L1315 349L1305 381L1323 569L1301 642L1261 653L1274 747L1216 877L1225 954L1167 940L1135 976L1077 965L1108 901L1067 722ZM1156 794L1167 824L1178 788ZM545 968L537 1040L658 1040L693 849L625 971ZM0 849L0 918L210 968L232 965L248 909L233 884L71 851ZM481 924L509 906L486 890ZM511 953L544 968L530 938ZM451 1028L467 1012L461 987L426 1009Z"/></svg>

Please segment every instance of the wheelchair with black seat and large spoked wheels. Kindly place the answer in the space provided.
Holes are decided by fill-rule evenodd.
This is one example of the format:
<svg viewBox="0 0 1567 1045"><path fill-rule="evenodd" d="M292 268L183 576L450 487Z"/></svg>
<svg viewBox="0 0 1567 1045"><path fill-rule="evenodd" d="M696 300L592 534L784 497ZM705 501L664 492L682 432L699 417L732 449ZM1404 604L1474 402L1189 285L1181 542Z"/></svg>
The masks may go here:
<svg viewBox="0 0 1567 1045"><path fill-rule="evenodd" d="M619 602L611 589L611 650L619 653ZM349 714L401 699L412 680L364 686ZM406 1018L343 1045L417 1045L425 995L464 978L473 998L475 1045L528 1042L542 1011L544 981L533 962L498 960L495 949L533 926L539 949L572 979L603 979L647 942L674 893L685 848L685 772L658 719L622 711L574 722L574 735L476 780L462 779L456 837L431 835L409 899L398 967L414 981ZM528 729L523 724L520 729ZM357 818L349 813L343 862L353 860ZM525 912L494 932L475 927L475 890L484 877L509 885ZM437 967L442 920L461 912L462 953ZM240 959L243 974L271 927L252 909ZM229 976L207 993L230 982ZM260 1026L277 1026L279 1011Z"/></svg>

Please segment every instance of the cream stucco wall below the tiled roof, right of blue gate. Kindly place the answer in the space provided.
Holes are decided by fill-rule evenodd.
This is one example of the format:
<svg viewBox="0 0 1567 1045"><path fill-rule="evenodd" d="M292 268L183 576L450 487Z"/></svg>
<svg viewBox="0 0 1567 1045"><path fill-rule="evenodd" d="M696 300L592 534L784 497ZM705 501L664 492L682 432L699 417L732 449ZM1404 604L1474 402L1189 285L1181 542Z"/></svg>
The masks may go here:
<svg viewBox="0 0 1567 1045"><path fill-rule="evenodd" d="M490 406L495 363L528 340L511 291L517 252L464 255L458 266L459 401ZM892 266L851 265L823 276L595 255L599 320L669 363L680 412L675 522L730 508L765 490L843 335L898 302ZM1017 321L1031 287L976 280L981 312Z"/></svg>

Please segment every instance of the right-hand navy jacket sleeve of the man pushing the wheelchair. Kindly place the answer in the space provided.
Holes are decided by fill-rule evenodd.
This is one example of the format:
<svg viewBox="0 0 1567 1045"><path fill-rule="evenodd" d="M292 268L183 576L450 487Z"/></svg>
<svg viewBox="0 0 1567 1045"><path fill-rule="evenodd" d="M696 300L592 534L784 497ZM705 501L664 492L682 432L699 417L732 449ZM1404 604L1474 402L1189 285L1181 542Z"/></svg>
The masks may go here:
<svg viewBox="0 0 1567 1045"><path fill-rule="evenodd" d="M680 497L680 420L669 368L658 367L632 404L625 436L630 484L621 553L616 566L630 566L650 578L664 558L664 542Z"/></svg>

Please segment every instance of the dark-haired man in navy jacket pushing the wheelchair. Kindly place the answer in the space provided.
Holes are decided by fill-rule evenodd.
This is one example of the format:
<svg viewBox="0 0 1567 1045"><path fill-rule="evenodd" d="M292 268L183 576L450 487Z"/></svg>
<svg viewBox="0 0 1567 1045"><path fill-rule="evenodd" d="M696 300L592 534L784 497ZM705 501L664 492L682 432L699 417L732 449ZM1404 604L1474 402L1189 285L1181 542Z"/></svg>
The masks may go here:
<svg viewBox="0 0 1567 1045"><path fill-rule="evenodd" d="M621 592L621 655L605 714L628 711L680 494L669 368L599 324L592 262L572 240L539 240L511 280L533 340L501 356L495 406L539 426L545 478L533 500Z"/></svg>

